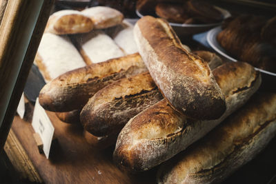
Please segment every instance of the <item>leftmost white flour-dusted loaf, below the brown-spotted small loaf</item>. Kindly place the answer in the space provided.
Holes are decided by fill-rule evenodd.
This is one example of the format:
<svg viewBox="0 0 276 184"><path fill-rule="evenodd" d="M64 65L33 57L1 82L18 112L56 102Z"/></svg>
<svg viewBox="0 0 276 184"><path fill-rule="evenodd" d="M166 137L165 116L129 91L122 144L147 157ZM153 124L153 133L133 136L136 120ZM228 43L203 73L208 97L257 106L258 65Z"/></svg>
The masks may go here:
<svg viewBox="0 0 276 184"><path fill-rule="evenodd" d="M67 36L45 33L34 59L46 83L57 76L86 65Z"/></svg>

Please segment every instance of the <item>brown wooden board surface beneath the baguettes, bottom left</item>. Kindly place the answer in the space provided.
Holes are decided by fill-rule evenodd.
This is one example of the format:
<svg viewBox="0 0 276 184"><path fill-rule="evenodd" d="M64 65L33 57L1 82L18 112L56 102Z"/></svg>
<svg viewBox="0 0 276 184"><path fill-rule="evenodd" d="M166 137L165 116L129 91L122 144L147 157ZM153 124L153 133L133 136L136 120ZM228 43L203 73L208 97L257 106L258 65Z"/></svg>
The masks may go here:
<svg viewBox="0 0 276 184"><path fill-rule="evenodd" d="M155 183L156 170L136 175L121 172L112 163L114 147L95 149L86 143L81 126L63 123L55 113L47 113L58 139L49 160L39 154L31 123L19 116L12 123L14 134L45 183Z"/></svg>

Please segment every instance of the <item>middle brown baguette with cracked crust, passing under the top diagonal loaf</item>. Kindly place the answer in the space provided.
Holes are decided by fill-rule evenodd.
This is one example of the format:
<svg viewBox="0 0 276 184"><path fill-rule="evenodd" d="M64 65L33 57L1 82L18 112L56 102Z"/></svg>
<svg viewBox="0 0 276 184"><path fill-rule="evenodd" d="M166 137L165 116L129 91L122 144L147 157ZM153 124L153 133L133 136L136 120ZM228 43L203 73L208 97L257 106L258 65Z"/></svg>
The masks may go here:
<svg viewBox="0 0 276 184"><path fill-rule="evenodd" d="M210 68L222 61L208 51L197 51ZM81 111L85 130L97 136L119 134L128 121L139 112L163 99L148 72L120 79L99 90Z"/></svg>

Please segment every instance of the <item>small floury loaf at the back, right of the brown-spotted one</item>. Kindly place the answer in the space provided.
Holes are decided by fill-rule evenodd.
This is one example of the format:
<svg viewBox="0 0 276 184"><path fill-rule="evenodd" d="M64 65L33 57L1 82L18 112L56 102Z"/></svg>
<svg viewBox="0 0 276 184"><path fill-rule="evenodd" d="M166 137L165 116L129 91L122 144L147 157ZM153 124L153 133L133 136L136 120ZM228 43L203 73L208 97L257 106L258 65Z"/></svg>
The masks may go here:
<svg viewBox="0 0 276 184"><path fill-rule="evenodd" d="M81 11L82 14L90 17L95 29L109 28L121 23L124 15L118 10L105 6L96 6Z"/></svg>

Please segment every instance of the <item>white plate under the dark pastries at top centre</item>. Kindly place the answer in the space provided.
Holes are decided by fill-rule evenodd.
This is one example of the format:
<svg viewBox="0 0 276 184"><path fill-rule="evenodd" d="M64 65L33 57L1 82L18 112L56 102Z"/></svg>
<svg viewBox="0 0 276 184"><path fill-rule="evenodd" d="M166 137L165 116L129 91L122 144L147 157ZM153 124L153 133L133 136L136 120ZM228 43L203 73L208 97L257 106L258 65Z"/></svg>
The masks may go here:
<svg viewBox="0 0 276 184"><path fill-rule="evenodd" d="M231 16L230 12L227 10L224 10L222 8L219 8L217 6L214 6L217 10L223 14L224 19ZM144 17L146 14L141 14L139 10L136 10L136 14L138 17ZM178 36L181 35L188 35L188 34L197 34L199 32L205 32L207 30L210 30L211 28L214 28L217 25L220 25L221 23L208 23L208 24L187 24L187 23L170 23L172 28L175 30Z"/></svg>

